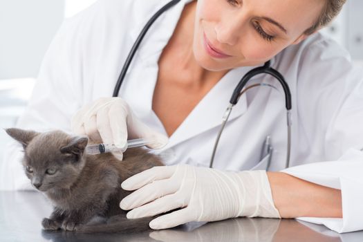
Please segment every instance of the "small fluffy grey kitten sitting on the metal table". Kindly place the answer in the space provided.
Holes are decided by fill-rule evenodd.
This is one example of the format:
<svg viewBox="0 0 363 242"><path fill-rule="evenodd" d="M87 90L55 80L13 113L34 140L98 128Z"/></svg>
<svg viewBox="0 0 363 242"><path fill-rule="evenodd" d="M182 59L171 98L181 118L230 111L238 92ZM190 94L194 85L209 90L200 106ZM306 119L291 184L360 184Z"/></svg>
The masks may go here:
<svg viewBox="0 0 363 242"><path fill-rule="evenodd" d="M127 219L120 201L127 192L123 180L133 174L163 165L158 156L145 149L127 149L122 161L111 153L91 156L84 153L86 137L62 131L37 133L22 129L6 132L24 147L23 165L32 185L54 205L45 230L82 232L140 232L149 229L153 218ZM29 171L29 168L32 171ZM51 169L56 172L53 175ZM47 174L50 173L50 174Z"/></svg>

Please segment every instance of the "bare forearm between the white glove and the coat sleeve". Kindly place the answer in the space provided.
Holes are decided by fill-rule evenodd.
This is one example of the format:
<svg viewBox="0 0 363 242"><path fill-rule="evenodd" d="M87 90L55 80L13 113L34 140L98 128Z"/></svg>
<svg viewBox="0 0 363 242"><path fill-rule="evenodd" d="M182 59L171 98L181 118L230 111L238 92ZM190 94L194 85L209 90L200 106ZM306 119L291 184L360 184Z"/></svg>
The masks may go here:
<svg viewBox="0 0 363 242"><path fill-rule="evenodd" d="M283 172L267 172L274 205L282 218L342 218L342 194Z"/></svg>

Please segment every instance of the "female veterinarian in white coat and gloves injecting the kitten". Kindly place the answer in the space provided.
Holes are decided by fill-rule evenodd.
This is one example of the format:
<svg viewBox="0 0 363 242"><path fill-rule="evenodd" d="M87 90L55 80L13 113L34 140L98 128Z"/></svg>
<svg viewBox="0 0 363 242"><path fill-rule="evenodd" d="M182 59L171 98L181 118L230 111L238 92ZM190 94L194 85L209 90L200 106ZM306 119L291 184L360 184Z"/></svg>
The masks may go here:
<svg viewBox="0 0 363 242"><path fill-rule="evenodd" d="M261 216L362 230L363 71L317 32L344 2L97 1L62 25L17 126L120 148L153 138L167 166L125 180L136 192L120 201L129 218L182 208L153 229ZM2 175L10 189L28 186L18 159L10 145Z"/></svg>

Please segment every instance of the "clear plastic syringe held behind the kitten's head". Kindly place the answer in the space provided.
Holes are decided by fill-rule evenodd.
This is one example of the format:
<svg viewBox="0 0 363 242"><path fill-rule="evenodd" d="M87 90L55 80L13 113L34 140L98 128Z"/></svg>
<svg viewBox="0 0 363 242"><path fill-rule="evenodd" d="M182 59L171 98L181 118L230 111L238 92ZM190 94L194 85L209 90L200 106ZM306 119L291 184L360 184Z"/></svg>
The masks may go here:
<svg viewBox="0 0 363 242"><path fill-rule="evenodd" d="M133 148L133 147L141 147L144 145L149 145L152 140L148 140L145 138L138 138L135 140L127 140L127 147L126 149ZM113 151L126 151L126 149L122 150L115 145L107 145L107 144L98 144L98 145L88 145L86 146L86 153L89 155L97 155L100 153L109 153Z"/></svg>

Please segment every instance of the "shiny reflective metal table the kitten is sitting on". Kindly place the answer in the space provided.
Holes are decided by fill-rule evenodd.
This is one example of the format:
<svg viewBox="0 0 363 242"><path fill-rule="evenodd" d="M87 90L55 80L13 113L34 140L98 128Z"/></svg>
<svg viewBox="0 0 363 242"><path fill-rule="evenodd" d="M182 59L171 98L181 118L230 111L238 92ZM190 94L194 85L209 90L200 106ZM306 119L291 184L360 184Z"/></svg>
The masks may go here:
<svg viewBox="0 0 363 242"><path fill-rule="evenodd" d="M140 234L80 234L41 230L52 211L39 192L0 192L0 241L363 241L363 231L337 234L322 225L294 219L234 218L214 223L187 223Z"/></svg>

